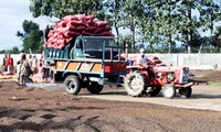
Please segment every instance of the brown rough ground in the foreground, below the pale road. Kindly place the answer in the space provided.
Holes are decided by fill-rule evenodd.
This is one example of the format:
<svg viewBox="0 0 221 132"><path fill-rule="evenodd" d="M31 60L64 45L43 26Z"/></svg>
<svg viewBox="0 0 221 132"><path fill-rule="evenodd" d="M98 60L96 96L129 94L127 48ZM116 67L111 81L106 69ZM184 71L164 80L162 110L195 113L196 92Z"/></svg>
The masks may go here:
<svg viewBox="0 0 221 132"><path fill-rule="evenodd" d="M0 131L4 132L218 132L221 129L221 112L88 99L65 94L55 86L45 90L21 87L14 81L0 82Z"/></svg>

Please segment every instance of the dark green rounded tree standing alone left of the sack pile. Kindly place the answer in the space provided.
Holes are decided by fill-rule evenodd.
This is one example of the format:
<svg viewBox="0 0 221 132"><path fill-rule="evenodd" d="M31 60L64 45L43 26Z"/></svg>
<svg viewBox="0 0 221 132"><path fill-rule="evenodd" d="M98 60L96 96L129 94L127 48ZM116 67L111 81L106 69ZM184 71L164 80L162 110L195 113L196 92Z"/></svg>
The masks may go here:
<svg viewBox="0 0 221 132"><path fill-rule="evenodd" d="M32 53L41 53L43 45L43 31L39 29L39 25L32 21L24 20L22 23L23 33L18 31L17 36L23 41L23 50Z"/></svg>

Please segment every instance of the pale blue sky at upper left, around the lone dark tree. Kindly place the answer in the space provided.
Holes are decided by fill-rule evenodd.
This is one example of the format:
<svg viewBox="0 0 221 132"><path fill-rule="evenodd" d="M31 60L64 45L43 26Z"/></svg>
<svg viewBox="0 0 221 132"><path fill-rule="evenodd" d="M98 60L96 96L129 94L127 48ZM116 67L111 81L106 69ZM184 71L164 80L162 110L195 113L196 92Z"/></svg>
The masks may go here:
<svg viewBox="0 0 221 132"><path fill-rule="evenodd" d="M33 19L29 11L30 0L6 0L0 2L0 51L17 46L22 48L22 41L15 34L23 32L22 22L32 20L43 30L50 22L48 18Z"/></svg>

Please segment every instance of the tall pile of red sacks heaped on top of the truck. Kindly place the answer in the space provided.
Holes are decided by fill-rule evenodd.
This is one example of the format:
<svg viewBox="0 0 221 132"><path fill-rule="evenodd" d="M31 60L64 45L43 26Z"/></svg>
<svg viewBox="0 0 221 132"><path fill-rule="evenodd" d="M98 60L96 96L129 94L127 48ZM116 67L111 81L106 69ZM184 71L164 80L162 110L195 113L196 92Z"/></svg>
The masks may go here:
<svg viewBox="0 0 221 132"><path fill-rule="evenodd" d="M73 37L78 35L112 36L112 28L106 21L94 21L94 15L66 15L49 32L44 47L63 48Z"/></svg>

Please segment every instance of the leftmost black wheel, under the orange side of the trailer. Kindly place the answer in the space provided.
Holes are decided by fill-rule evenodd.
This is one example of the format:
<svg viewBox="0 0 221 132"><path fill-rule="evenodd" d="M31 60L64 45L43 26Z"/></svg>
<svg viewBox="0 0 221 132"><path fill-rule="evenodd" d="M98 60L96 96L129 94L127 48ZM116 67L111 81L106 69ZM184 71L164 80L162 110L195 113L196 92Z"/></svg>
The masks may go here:
<svg viewBox="0 0 221 132"><path fill-rule="evenodd" d="M72 94L72 95L77 95L80 92L80 90L81 90L80 80L74 75L67 76L65 78L65 80L64 80L64 87L65 87L65 90L69 94Z"/></svg>

